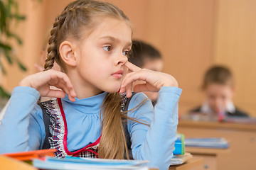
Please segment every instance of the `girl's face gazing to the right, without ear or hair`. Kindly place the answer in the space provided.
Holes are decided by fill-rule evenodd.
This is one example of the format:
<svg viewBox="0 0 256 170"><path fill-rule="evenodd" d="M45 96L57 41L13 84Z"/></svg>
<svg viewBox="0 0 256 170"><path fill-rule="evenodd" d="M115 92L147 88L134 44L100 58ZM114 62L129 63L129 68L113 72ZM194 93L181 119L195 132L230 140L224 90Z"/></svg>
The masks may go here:
<svg viewBox="0 0 256 170"><path fill-rule="evenodd" d="M124 64L131 46L132 29L128 23L102 17L78 45L78 90L88 89L95 94L117 92L127 73Z"/></svg>

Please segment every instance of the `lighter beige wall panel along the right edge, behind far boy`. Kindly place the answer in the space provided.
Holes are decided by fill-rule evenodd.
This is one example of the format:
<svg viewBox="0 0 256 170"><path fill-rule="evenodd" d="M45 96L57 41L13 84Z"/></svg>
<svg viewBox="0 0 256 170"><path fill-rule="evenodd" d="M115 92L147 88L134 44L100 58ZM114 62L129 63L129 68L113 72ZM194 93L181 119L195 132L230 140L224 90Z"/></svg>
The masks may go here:
<svg viewBox="0 0 256 170"><path fill-rule="evenodd" d="M256 116L256 1L218 0L215 63L232 69L237 85L235 104Z"/></svg>

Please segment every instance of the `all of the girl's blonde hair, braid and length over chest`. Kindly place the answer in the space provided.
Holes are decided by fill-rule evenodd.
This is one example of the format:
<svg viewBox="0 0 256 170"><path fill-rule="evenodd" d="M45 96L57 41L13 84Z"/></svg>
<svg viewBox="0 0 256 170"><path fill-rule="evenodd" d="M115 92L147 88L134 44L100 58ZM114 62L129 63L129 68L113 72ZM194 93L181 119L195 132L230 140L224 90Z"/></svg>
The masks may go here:
<svg viewBox="0 0 256 170"><path fill-rule="evenodd" d="M45 70L53 67L54 61L65 71L65 66L60 57L58 48L67 38L80 40L97 26L95 17L108 16L129 23L129 18L124 13L107 2L93 0L78 0L69 4L55 19L53 29L50 31L48 41L48 57ZM107 94L102 103L102 137L98 154L100 158L124 159L124 150L127 145L122 126L122 118L127 118L121 113L121 97L118 93ZM128 154L127 158L128 157Z"/></svg>

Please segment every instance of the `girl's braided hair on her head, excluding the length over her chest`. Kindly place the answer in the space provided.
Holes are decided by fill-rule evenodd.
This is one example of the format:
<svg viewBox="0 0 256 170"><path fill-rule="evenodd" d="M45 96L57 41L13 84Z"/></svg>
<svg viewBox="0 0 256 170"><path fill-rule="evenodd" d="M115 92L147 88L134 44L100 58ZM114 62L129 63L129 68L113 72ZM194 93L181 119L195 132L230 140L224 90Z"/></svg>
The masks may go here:
<svg viewBox="0 0 256 170"><path fill-rule="evenodd" d="M107 16L125 21L131 26L129 18L117 6L107 2L77 0L66 6L60 16L55 19L53 29L50 30L45 70L51 69L54 61L65 69L58 49L61 42L67 38L72 40L85 38L85 35L90 34L100 22L95 18Z"/></svg>

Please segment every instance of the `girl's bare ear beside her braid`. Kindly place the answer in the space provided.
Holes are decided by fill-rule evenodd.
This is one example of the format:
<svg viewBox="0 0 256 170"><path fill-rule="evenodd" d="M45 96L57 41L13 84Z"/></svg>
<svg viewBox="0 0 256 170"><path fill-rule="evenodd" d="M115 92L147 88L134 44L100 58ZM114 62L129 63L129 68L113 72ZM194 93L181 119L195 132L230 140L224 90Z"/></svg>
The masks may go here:
<svg viewBox="0 0 256 170"><path fill-rule="evenodd" d="M62 58L65 64L75 67L78 62L75 56L75 48L72 42L70 41L63 41L60 44L60 57Z"/></svg>

